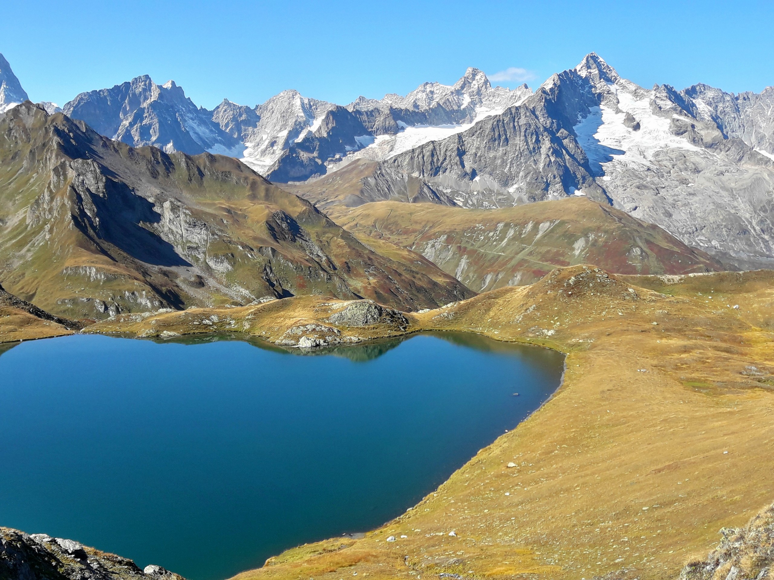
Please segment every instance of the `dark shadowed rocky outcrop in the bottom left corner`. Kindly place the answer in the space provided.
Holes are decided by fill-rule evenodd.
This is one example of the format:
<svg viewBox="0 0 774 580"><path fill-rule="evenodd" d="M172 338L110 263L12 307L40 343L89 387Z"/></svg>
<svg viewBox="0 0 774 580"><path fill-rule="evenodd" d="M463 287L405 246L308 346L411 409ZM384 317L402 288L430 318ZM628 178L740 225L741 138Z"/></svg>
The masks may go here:
<svg viewBox="0 0 774 580"><path fill-rule="evenodd" d="M46 534L0 527L0 580L184 580L161 566L141 570L132 560Z"/></svg>

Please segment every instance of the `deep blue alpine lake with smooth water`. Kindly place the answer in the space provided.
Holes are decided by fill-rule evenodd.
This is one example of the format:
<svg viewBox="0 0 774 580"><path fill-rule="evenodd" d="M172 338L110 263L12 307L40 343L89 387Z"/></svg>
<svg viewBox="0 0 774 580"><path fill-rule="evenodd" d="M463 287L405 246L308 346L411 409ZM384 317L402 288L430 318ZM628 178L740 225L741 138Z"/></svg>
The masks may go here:
<svg viewBox="0 0 774 580"><path fill-rule="evenodd" d="M233 339L21 343L0 354L0 525L228 578L398 516L546 401L562 368L457 333L313 356Z"/></svg>

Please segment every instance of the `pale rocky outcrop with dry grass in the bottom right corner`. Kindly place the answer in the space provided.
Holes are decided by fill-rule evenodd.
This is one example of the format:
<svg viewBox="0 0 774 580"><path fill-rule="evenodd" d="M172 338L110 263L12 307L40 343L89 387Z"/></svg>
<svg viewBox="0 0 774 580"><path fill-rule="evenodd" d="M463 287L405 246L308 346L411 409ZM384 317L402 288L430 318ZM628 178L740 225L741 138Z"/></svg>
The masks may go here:
<svg viewBox="0 0 774 580"><path fill-rule="evenodd" d="M774 578L774 505L745 527L721 530L723 539L704 560L680 571L680 580L769 580Z"/></svg>

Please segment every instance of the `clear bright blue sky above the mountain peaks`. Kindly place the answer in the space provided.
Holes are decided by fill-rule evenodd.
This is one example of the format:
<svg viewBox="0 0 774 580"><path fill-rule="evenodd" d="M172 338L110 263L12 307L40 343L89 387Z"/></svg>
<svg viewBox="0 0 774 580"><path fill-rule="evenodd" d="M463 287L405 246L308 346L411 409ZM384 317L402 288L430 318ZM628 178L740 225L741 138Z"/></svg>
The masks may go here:
<svg viewBox="0 0 774 580"><path fill-rule="evenodd" d="M535 87L596 51L645 87L774 85L772 2L0 0L0 53L33 101L151 75L195 103L280 90L347 104L451 84L466 67ZM515 81L499 84L512 86Z"/></svg>

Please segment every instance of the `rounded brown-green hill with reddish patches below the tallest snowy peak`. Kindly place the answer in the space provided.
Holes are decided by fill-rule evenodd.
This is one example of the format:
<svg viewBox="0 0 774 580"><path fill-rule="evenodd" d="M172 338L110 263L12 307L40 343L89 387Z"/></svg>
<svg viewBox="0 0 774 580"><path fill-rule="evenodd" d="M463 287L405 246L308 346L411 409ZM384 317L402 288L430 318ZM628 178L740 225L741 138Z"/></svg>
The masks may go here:
<svg viewBox="0 0 774 580"><path fill-rule="evenodd" d="M354 234L423 254L476 292L531 284L572 264L621 274L724 269L665 230L583 197L500 210L387 201L328 214Z"/></svg>

